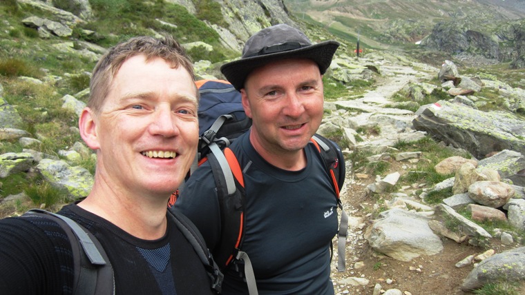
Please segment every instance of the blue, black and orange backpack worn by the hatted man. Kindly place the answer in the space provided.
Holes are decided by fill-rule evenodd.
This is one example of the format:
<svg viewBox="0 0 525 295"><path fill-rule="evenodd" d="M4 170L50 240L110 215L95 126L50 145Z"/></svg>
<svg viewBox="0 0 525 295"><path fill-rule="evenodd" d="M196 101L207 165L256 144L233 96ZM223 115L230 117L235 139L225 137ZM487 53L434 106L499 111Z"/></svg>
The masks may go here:
<svg viewBox="0 0 525 295"><path fill-rule="evenodd" d="M221 227L231 229L222 231L218 245L219 252L215 253L213 258L220 269L229 267L234 260L244 261L249 294L258 294L249 256L240 250L244 238L243 208L246 194L244 179L235 154L228 148L240 134L249 130L251 120L248 119L242 108L240 92L227 81L205 80L197 81L196 84L200 93L198 111L200 139L195 160L197 164L193 165L189 175L198 165L209 161L217 188ZM339 199L339 189L343 187L346 172L343 153L336 143L321 135L314 135L310 141L316 146L316 150L321 153L325 161L326 170L331 177L334 192L336 192L337 204L341 210L337 269L339 272L344 272L348 216ZM179 187L179 190L172 194L170 207L175 203L182 189L183 187ZM330 247L333 254L333 245L330 244Z"/></svg>

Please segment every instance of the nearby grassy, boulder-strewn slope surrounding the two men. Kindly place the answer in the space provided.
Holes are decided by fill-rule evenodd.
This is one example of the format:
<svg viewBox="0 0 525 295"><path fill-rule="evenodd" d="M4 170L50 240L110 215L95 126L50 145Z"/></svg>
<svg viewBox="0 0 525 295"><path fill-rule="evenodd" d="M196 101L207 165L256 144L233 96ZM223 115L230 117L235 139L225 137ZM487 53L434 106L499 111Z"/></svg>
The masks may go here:
<svg viewBox="0 0 525 295"><path fill-rule="evenodd" d="M356 58L352 39L294 17L292 1L49 2L0 2L0 217L56 210L88 194L95 154L77 120L106 48L169 32L198 77L223 78L219 65L240 55L249 34L284 22L314 41L342 43L325 74L319 130L341 145L347 166L347 269L337 272L334 259L336 293L524 294L522 70L497 60L478 68L469 54L392 48ZM424 3L430 11L438 2L448 5Z"/></svg>

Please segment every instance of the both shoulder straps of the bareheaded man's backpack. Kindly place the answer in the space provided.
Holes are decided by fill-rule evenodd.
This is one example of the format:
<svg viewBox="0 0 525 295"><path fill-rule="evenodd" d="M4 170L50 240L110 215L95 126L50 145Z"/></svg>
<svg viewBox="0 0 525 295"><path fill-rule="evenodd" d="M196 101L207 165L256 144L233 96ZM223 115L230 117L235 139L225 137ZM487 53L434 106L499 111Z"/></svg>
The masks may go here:
<svg viewBox="0 0 525 295"><path fill-rule="evenodd" d="M75 278L73 294L115 294L115 276L104 247L82 225L66 216L55 214L41 209L32 209L22 216L41 216L57 222L71 242ZM175 225L184 234L193 246L200 260L207 269L211 278L211 287L220 293L222 287L222 273L218 265L211 258L211 254L204 244L204 238L195 228L195 225L182 214L169 214ZM76 242L75 242L76 241Z"/></svg>

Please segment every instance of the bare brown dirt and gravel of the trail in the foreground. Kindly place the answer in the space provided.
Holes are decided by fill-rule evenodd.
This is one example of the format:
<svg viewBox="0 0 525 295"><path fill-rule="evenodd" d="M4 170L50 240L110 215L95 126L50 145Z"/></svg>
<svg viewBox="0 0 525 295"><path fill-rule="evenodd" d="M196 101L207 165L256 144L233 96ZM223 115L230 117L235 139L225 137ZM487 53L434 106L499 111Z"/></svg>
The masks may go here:
<svg viewBox="0 0 525 295"><path fill-rule="evenodd" d="M336 294L372 294L377 283L382 289L395 288L413 295L466 294L459 287L472 268L457 268L455 264L466 256L483 252L480 248L443 238L443 252L435 256L420 256L410 262L397 261L372 250L363 234L369 224L370 208L378 199L367 193L366 185L373 181L373 176L361 180L350 176L346 180L342 201L350 215L347 271L337 272L333 263L332 280ZM363 283L354 278L367 281L363 280Z"/></svg>

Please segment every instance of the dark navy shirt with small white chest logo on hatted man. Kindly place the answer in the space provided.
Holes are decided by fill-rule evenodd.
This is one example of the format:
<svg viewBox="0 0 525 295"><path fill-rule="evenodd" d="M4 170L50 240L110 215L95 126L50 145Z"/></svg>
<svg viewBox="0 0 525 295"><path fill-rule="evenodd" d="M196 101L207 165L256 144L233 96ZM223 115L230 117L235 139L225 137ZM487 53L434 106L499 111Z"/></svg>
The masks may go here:
<svg viewBox="0 0 525 295"><path fill-rule="evenodd" d="M249 132L232 145L246 189L245 240L259 294L334 294L330 281L330 242L335 236L337 203L323 159L305 147L307 167L281 170L254 150ZM204 163L175 202L198 227L214 252L220 239L220 209L211 167ZM247 294L242 265L225 272L223 294Z"/></svg>

